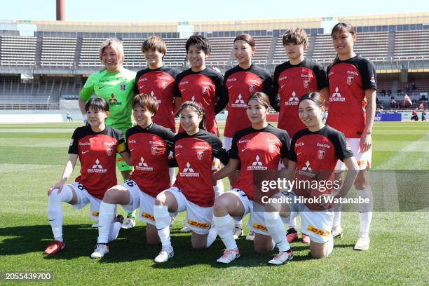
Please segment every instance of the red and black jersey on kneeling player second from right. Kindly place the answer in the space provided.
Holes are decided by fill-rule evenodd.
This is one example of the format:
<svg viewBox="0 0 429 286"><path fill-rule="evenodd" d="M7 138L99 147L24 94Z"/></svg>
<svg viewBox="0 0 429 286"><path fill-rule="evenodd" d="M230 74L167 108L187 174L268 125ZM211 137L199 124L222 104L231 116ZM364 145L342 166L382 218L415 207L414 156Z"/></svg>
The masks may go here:
<svg viewBox="0 0 429 286"><path fill-rule="evenodd" d="M268 125L266 128L245 128L233 137L229 158L240 160L240 177L233 188L243 190L253 199L253 171L277 170L280 158L286 158L290 137L285 130Z"/></svg>

